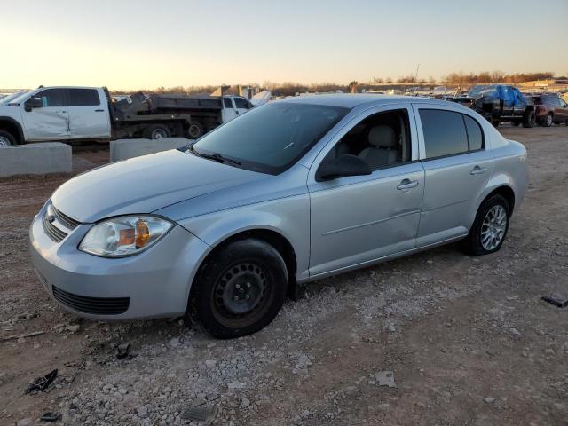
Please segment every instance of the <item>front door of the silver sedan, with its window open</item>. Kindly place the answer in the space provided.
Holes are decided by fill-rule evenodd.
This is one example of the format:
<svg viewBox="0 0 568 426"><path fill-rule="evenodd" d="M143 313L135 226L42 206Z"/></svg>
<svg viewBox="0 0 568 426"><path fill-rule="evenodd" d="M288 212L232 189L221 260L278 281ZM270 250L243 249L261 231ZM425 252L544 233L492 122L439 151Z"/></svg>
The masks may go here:
<svg viewBox="0 0 568 426"><path fill-rule="evenodd" d="M415 247L424 170L413 162L417 144L410 111L393 107L351 122L312 165L311 276ZM317 181L319 164L344 154L359 156L372 173Z"/></svg>

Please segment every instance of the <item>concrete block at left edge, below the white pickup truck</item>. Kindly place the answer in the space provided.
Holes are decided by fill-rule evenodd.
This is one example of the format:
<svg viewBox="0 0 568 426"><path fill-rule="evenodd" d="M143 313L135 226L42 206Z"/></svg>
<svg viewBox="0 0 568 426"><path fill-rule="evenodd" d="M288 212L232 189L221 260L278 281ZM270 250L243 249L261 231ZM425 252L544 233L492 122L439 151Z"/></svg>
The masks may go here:
<svg viewBox="0 0 568 426"><path fill-rule="evenodd" d="M44 142L0 148L0 177L70 173L71 146Z"/></svg>

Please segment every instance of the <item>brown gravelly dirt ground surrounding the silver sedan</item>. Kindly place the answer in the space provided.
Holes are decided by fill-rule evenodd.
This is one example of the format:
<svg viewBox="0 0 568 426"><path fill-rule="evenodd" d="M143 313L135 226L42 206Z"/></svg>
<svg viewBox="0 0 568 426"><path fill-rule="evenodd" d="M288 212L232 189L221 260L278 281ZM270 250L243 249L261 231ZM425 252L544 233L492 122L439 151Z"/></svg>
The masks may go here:
<svg viewBox="0 0 568 426"><path fill-rule="evenodd" d="M27 246L68 176L0 180L0 424L568 425L568 308L540 300L568 299L568 128L500 130L527 147L531 184L499 253L452 245L320 280L233 341L63 311ZM107 155L76 152L75 171ZM136 356L116 359L121 343Z"/></svg>

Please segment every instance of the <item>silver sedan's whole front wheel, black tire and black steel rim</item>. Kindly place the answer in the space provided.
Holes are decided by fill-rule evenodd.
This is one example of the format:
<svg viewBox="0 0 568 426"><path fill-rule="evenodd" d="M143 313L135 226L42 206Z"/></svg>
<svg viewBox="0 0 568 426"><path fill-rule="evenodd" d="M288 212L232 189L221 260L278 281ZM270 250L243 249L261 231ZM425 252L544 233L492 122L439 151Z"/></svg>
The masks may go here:
<svg viewBox="0 0 568 426"><path fill-rule="evenodd" d="M186 315L196 313L211 335L230 339L272 322L286 297L288 270L270 244L234 241L206 261L193 285Z"/></svg>

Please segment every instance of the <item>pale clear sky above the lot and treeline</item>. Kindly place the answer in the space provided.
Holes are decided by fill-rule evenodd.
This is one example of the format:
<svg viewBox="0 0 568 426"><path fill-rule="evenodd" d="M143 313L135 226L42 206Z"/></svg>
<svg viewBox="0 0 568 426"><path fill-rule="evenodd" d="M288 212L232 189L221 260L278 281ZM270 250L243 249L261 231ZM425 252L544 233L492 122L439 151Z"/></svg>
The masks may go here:
<svg viewBox="0 0 568 426"><path fill-rule="evenodd" d="M568 0L0 0L0 88L568 74Z"/></svg>

